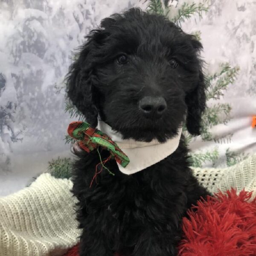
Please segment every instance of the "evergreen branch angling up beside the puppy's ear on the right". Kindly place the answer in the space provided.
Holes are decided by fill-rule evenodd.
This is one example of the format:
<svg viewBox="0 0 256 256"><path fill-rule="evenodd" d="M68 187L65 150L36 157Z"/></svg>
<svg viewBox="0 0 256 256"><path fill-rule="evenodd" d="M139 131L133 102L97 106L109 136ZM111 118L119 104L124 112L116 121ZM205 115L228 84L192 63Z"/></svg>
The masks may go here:
<svg viewBox="0 0 256 256"><path fill-rule="evenodd" d="M228 64L222 66L219 73L209 76L209 87L207 91L207 100L220 99L223 96L223 90L227 90L229 84L233 84L239 72L239 67L231 68ZM214 83L215 81L215 83Z"/></svg>

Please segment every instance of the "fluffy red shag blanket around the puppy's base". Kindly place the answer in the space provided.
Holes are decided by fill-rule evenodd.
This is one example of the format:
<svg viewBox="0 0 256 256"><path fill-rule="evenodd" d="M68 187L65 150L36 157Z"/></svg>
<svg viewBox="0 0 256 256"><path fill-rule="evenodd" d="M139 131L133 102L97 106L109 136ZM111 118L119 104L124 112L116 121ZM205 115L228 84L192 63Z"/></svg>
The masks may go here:
<svg viewBox="0 0 256 256"><path fill-rule="evenodd" d="M179 256L256 255L256 198L231 189L201 200L183 218ZM65 256L79 256L78 246Z"/></svg>

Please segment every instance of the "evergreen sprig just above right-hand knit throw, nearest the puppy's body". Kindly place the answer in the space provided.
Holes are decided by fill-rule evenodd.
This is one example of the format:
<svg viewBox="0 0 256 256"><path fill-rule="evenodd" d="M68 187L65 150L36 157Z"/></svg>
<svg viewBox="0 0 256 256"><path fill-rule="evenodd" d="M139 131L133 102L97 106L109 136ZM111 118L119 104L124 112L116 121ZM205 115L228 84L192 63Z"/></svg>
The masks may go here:
<svg viewBox="0 0 256 256"><path fill-rule="evenodd" d="M206 151L204 153L194 153L190 155L193 167L202 167L203 163L212 162L218 159L218 149L215 148L213 151Z"/></svg>

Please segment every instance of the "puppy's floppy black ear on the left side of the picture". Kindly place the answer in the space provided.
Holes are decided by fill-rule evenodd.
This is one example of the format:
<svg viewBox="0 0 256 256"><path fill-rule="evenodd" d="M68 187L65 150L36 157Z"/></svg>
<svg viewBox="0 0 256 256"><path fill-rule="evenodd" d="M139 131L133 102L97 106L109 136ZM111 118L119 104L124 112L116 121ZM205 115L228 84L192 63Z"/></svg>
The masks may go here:
<svg viewBox="0 0 256 256"><path fill-rule="evenodd" d="M93 93L92 73L93 59L91 51L93 49L93 38L88 37L87 42L80 48L76 55L75 62L70 66L67 74L67 96L81 111L86 121L96 127L98 124L98 109Z"/></svg>

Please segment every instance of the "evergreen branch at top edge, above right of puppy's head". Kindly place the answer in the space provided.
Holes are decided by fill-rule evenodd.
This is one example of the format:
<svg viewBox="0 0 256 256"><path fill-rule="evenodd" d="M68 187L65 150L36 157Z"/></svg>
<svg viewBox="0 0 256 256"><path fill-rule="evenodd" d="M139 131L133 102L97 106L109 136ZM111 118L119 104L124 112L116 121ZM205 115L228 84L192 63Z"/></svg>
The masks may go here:
<svg viewBox="0 0 256 256"><path fill-rule="evenodd" d="M172 22L176 23L177 25L180 25L182 22L184 22L187 19L190 19L192 15L199 15L201 18L203 15L203 12L208 12L208 0L203 0L201 3L196 4L193 3L183 3L183 5L178 10L178 15L171 19Z"/></svg>

